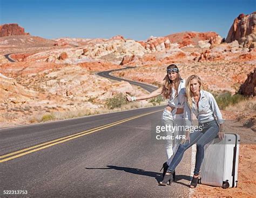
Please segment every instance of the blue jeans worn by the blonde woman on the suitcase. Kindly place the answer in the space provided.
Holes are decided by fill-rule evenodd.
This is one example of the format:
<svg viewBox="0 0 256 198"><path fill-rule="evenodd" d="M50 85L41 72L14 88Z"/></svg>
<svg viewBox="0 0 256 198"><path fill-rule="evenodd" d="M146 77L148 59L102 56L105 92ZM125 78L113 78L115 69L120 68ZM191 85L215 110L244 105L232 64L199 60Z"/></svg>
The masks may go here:
<svg viewBox="0 0 256 198"><path fill-rule="evenodd" d="M193 144L197 143L196 166L194 167L194 174L199 174L200 167L204 159L204 146L216 138L220 130L216 121L210 121L203 124L199 123L199 126L202 126L203 130L194 130L192 133L190 133L190 143L188 140L186 140L184 144L179 145L179 148L174 155L167 172L174 172L175 168L183 158L184 152Z"/></svg>

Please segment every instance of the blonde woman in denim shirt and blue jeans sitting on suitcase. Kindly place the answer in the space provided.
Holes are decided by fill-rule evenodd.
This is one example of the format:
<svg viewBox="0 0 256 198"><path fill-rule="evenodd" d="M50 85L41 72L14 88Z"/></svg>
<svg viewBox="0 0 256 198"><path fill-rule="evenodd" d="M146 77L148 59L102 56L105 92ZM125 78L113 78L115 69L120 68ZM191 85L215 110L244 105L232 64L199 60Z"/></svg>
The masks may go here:
<svg viewBox="0 0 256 198"><path fill-rule="evenodd" d="M165 186L171 180L172 174L183 158L184 152L197 143L196 166L190 187L196 188L201 164L204 159L204 146L215 137L224 138L223 118L213 95L201 89L202 82L199 76L191 75L186 81L186 100L184 108L185 127L191 126L191 112L198 119L198 128L192 132L187 130L186 140L179 145L163 181L159 185ZM171 184L171 183L170 183Z"/></svg>

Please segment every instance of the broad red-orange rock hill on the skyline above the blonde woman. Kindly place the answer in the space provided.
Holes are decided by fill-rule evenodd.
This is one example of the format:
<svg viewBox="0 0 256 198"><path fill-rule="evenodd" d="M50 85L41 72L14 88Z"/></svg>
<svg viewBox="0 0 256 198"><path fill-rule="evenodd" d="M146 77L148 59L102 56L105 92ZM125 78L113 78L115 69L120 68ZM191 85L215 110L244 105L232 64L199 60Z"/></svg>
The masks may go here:
<svg viewBox="0 0 256 198"><path fill-rule="evenodd" d="M179 47L184 47L190 44L197 45L199 40L210 40L215 36L218 36L215 32L180 32L165 37L169 38L171 43L178 43Z"/></svg>

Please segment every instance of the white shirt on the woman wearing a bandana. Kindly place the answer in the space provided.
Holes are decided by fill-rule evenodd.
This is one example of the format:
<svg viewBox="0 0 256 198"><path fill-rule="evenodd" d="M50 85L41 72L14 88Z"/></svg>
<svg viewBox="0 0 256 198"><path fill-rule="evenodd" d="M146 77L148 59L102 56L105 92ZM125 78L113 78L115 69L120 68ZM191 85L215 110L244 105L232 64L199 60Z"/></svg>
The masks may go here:
<svg viewBox="0 0 256 198"><path fill-rule="evenodd" d="M172 88L172 95L169 98L168 104L176 109L184 108L185 93L185 80L181 79L178 87L178 95L175 97L176 90Z"/></svg>

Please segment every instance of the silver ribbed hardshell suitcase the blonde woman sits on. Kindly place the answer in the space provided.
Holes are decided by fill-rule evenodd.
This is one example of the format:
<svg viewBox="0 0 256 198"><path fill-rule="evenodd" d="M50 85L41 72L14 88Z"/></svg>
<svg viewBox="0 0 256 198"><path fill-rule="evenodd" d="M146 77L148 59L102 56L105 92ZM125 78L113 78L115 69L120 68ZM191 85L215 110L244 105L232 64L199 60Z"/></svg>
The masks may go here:
<svg viewBox="0 0 256 198"><path fill-rule="evenodd" d="M205 145L198 183L223 188L237 187L239 143L239 135L226 133L223 140L215 138Z"/></svg>

